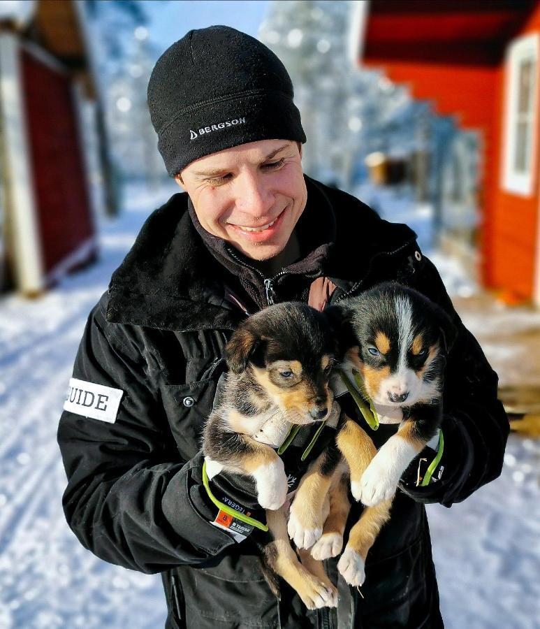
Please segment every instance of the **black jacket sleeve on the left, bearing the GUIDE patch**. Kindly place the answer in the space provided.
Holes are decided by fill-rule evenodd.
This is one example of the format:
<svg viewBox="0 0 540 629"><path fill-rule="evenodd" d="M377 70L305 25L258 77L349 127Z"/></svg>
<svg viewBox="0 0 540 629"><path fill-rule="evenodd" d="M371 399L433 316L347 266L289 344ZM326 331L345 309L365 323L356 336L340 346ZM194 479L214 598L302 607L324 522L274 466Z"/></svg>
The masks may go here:
<svg viewBox="0 0 540 629"><path fill-rule="evenodd" d="M210 523L200 454L180 460L146 361L124 326L105 321L102 303L87 321L72 385L117 389L122 399L109 421L84 409L61 416L66 519L82 545L110 563L142 572L202 563L235 542Z"/></svg>

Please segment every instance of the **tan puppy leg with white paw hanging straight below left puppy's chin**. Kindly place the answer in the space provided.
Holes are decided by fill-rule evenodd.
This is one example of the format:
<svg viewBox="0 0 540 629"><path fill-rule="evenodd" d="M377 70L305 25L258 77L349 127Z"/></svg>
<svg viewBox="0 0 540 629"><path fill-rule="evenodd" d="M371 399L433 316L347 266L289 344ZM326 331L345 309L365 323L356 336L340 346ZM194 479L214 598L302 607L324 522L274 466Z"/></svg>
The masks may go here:
<svg viewBox="0 0 540 629"><path fill-rule="evenodd" d="M323 508L328 489L341 460L340 451L330 444L302 477L289 514L289 535L297 548L310 548L323 533Z"/></svg>

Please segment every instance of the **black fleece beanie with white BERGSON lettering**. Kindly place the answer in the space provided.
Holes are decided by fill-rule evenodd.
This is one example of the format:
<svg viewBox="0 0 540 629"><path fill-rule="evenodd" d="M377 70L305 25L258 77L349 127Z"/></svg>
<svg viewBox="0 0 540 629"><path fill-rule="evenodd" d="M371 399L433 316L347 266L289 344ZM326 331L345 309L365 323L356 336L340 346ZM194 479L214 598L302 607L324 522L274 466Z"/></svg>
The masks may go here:
<svg viewBox="0 0 540 629"><path fill-rule="evenodd" d="M276 55L226 26L189 31L159 57L150 117L167 172L256 140L306 141L293 84Z"/></svg>

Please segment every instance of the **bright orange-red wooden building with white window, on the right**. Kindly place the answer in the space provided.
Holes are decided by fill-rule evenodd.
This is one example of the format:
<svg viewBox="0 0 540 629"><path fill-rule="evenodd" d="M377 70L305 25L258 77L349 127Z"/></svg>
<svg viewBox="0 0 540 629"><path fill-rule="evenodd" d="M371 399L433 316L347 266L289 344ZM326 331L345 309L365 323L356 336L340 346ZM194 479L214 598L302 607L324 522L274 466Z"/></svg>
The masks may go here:
<svg viewBox="0 0 540 629"><path fill-rule="evenodd" d="M480 275L540 304L540 0L371 0L363 66L481 134Z"/></svg>

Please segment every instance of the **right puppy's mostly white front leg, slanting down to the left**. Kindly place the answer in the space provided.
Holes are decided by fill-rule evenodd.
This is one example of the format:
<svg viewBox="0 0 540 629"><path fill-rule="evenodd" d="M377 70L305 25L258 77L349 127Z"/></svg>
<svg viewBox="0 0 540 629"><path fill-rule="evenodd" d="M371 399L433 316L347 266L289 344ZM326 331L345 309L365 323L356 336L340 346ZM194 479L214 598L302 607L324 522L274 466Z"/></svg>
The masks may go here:
<svg viewBox="0 0 540 629"><path fill-rule="evenodd" d="M439 406L418 405L411 412L414 412L414 419L403 421L397 433L379 449L360 479L359 499L368 507L394 495L403 472L439 427Z"/></svg>

